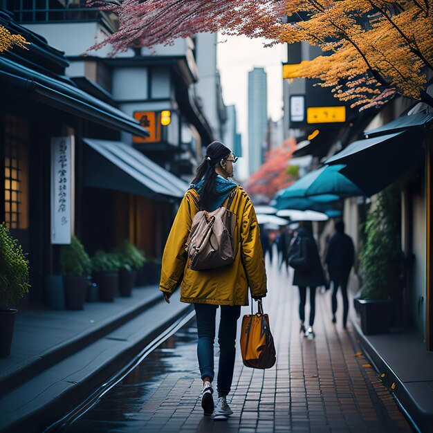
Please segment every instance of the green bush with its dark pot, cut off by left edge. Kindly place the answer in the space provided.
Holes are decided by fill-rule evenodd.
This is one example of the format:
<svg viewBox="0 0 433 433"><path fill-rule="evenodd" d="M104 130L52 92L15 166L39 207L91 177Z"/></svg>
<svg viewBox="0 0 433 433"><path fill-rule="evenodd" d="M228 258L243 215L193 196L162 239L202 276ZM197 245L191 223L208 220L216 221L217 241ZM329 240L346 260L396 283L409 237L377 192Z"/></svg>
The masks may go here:
<svg viewBox="0 0 433 433"><path fill-rule="evenodd" d="M5 223L0 224L0 357L10 355L15 313L30 287L28 260Z"/></svg>

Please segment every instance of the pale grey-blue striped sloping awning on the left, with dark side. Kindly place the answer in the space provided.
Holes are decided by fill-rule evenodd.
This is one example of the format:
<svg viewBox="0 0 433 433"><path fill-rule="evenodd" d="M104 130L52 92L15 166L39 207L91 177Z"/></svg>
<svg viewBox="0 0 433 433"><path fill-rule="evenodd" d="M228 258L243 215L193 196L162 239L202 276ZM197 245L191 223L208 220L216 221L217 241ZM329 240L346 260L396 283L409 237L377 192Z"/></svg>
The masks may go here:
<svg viewBox="0 0 433 433"><path fill-rule="evenodd" d="M84 138L84 184L151 199L181 198L188 184L125 143Z"/></svg>

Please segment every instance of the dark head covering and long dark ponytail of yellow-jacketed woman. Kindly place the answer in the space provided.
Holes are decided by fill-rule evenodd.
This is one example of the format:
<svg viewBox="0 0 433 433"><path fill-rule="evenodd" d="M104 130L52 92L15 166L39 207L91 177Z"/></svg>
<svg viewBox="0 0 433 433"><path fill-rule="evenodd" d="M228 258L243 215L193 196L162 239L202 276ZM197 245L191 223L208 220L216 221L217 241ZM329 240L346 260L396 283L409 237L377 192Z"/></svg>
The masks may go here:
<svg viewBox="0 0 433 433"><path fill-rule="evenodd" d="M202 209L208 209L210 203L216 198L215 190L215 166L221 159L227 158L231 153L228 147L225 147L221 141L213 141L206 147L206 155L203 162L197 167L196 177L192 183L198 183L201 178L205 178L203 186L200 188L199 206Z"/></svg>

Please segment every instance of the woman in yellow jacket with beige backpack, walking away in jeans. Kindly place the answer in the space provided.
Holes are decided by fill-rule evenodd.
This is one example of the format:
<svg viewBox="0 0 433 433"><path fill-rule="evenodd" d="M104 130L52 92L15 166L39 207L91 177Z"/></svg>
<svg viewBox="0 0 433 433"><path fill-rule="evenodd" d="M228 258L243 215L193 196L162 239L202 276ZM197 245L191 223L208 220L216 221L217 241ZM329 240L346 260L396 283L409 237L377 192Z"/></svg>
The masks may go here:
<svg viewBox="0 0 433 433"><path fill-rule="evenodd" d="M215 420L226 420L233 413L227 396L233 378L237 320L241 306L248 305L248 287L255 300L267 292L254 207L248 194L228 180L236 161L219 141L207 147L169 233L159 285L166 302L181 284L181 302L194 304L203 380L201 406L204 414ZM219 306L218 400L214 406L215 317Z"/></svg>

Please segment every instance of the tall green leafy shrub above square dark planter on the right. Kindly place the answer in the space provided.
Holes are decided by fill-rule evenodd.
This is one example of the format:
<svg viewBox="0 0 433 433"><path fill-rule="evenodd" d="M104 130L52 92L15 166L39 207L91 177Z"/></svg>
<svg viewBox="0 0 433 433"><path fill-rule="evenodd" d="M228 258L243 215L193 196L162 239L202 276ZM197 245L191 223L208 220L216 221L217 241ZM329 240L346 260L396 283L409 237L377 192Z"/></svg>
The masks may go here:
<svg viewBox="0 0 433 433"><path fill-rule="evenodd" d="M400 189L391 185L378 194L367 215L366 242L360 255L364 273L361 299L389 299L402 286L404 261L400 242Z"/></svg>

